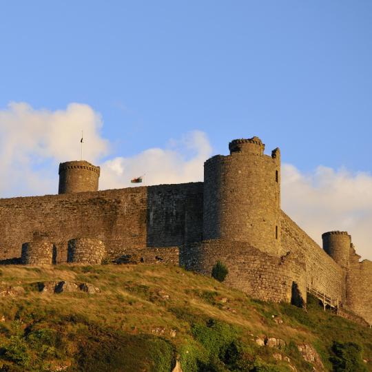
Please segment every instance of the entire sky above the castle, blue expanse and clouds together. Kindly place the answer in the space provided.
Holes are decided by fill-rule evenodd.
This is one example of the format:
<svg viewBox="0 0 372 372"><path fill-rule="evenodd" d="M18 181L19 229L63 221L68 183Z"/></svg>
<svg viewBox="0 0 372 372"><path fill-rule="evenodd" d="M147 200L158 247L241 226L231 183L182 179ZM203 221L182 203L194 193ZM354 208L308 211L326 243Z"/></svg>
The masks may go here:
<svg viewBox="0 0 372 372"><path fill-rule="evenodd" d="M372 259L371 1L0 0L0 197L203 180L234 138L282 154L282 209Z"/></svg>

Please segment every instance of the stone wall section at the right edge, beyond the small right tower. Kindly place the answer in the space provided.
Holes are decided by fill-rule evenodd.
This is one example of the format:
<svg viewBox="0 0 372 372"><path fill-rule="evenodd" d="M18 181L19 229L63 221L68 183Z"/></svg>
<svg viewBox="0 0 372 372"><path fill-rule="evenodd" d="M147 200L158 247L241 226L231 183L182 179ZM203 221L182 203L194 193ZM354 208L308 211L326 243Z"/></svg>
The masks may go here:
<svg viewBox="0 0 372 372"><path fill-rule="evenodd" d="M355 249L350 249L347 273L347 306L372 325L372 262L359 261Z"/></svg>

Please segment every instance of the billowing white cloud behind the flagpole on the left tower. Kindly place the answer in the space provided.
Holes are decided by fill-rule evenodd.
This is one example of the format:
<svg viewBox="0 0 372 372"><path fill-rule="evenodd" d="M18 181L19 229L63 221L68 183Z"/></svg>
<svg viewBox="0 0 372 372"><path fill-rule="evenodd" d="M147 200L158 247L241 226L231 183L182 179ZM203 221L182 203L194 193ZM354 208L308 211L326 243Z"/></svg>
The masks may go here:
<svg viewBox="0 0 372 372"><path fill-rule="evenodd" d="M85 159L94 163L107 154L101 126L101 116L79 103L53 112L27 103L0 110L1 197L56 193L58 163L80 158L81 130Z"/></svg>

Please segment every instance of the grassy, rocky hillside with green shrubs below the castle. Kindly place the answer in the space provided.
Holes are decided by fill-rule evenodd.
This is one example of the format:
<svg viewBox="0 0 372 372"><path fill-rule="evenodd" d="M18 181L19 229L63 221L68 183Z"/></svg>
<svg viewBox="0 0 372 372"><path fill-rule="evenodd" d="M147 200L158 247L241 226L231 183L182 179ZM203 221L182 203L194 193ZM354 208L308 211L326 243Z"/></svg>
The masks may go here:
<svg viewBox="0 0 372 372"><path fill-rule="evenodd" d="M371 329L314 298L261 302L165 265L3 266L0 281L0 371L372 371Z"/></svg>

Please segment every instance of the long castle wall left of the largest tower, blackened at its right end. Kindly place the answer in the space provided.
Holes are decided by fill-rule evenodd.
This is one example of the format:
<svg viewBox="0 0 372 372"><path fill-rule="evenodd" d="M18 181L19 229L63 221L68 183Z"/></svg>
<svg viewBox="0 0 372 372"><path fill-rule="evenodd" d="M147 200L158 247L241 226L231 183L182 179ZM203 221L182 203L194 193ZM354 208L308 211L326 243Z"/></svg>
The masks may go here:
<svg viewBox="0 0 372 372"><path fill-rule="evenodd" d="M35 233L54 243L57 263L74 238L102 240L108 258L174 247L200 238L202 210L203 183L0 199L0 260L20 257Z"/></svg>

